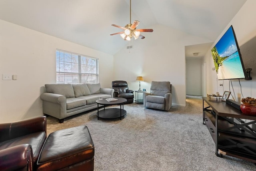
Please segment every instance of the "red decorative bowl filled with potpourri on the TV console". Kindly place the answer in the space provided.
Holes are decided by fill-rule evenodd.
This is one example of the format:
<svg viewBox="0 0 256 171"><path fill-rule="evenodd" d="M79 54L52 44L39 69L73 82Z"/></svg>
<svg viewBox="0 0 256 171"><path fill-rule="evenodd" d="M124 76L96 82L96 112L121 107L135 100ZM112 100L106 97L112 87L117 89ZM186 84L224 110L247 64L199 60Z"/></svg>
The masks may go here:
<svg viewBox="0 0 256 171"><path fill-rule="evenodd" d="M240 109L242 113L247 115L256 115L256 99L252 97L242 98Z"/></svg>

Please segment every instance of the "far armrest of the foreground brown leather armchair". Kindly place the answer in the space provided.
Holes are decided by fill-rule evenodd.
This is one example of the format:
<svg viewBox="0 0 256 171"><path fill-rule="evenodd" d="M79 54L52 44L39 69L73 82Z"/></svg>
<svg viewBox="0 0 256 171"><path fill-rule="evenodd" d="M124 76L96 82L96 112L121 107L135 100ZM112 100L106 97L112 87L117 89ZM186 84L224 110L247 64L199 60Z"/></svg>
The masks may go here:
<svg viewBox="0 0 256 171"><path fill-rule="evenodd" d="M35 117L24 121L0 124L0 142L31 133L46 132L46 116Z"/></svg>

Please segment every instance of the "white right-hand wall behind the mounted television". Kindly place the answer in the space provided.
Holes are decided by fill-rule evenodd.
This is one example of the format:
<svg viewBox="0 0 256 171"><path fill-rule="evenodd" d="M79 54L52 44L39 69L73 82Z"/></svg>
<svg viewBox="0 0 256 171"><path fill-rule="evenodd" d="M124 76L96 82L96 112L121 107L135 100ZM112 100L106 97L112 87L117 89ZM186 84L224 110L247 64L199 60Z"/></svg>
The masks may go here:
<svg viewBox="0 0 256 171"><path fill-rule="evenodd" d="M232 95L235 95L237 100L240 102L242 95L244 97L256 97L256 1L247 0L239 10L239 12L234 16L230 23L226 26L223 32L220 34L218 39L214 42L213 46L218 42L222 35L228 30L232 25L236 34L238 45L240 46L240 52L242 55L242 60L244 62L245 68L252 68L252 80L246 81L240 79L240 84L242 86L242 92L240 90L240 84L238 80L232 80L234 91L232 87L229 88L229 81L224 80L224 91L232 92ZM204 62L207 63L207 93L215 92L217 89L216 84L216 71L212 71L211 68L214 67L211 49L209 49L206 56L204 57ZM230 96L230 99L232 97Z"/></svg>

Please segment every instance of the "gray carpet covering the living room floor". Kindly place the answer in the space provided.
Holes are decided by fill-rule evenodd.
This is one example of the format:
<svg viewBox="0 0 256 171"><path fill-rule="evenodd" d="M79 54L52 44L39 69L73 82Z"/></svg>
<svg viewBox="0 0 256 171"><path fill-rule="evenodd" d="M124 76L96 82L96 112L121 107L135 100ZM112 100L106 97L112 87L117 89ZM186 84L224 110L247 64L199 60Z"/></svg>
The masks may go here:
<svg viewBox="0 0 256 171"><path fill-rule="evenodd" d="M119 107L119 106L112 106ZM186 107L170 111L124 105L120 121L97 120L96 110L58 123L48 117L47 133L86 125L95 145L95 171L252 171L254 163L215 155L215 145L202 123L202 99L188 96Z"/></svg>

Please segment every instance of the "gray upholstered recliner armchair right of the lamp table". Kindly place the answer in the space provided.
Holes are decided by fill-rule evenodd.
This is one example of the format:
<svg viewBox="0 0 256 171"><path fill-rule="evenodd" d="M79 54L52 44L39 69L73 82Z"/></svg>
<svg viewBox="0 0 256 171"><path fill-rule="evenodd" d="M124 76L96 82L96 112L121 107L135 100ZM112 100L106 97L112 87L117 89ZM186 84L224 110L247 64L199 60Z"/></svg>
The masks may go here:
<svg viewBox="0 0 256 171"><path fill-rule="evenodd" d="M172 84L151 82L150 92L143 92L144 107L169 111L172 107Z"/></svg>

